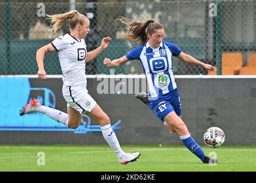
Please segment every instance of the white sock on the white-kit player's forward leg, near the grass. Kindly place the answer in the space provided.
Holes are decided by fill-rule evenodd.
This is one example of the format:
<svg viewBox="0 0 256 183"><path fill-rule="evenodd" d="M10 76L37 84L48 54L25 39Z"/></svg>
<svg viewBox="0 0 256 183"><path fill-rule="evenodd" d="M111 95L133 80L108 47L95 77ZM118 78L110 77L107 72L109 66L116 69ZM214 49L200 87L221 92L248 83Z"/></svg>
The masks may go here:
<svg viewBox="0 0 256 183"><path fill-rule="evenodd" d="M119 141L116 138L115 132L112 130L111 124L101 126L100 128L103 133L103 137L108 142L108 145L111 146L111 149L117 154L117 157L121 158L125 153L120 147Z"/></svg>

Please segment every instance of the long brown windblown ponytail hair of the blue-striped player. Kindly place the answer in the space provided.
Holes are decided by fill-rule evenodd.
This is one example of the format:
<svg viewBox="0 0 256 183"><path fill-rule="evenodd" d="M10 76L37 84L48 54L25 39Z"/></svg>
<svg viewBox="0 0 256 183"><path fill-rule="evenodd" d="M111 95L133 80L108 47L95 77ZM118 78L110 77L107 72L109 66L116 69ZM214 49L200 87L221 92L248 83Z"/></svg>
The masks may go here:
<svg viewBox="0 0 256 183"><path fill-rule="evenodd" d="M163 25L153 19L144 22L135 22L125 17L119 17L116 21L124 23L128 28L128 33L121 33L121 36L129 41L137 41L139 45L144 45L148 41L147 33L153 34L156 29L163 29Z"/></svg>

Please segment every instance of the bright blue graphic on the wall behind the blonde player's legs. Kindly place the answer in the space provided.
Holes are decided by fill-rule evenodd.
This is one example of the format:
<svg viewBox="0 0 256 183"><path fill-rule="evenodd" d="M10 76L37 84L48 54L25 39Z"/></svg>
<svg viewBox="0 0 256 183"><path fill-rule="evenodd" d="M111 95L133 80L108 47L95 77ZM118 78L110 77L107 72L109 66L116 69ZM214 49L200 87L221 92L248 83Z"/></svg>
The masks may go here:
<svg viewBox="0 0 256 183"><path fill-rule="evenodd" d="M38 85L38 83L37 83ZM84 114L77 129L70 129L64 124L52 120L45 114L26 114L19 116L22 106L36 98L42 105L56 108L57 100L53 90L48 87L31 87L29 78L0 77L0 130L11 131L62 131L85 134L101 131L100 125L92 125L91 118ZM61 93L61 90L58 91ZM62 106L63 107L63 106ZM60 109L58 109L60 110ZM120 130L121 120L112 124L113 130Z"/></svg>

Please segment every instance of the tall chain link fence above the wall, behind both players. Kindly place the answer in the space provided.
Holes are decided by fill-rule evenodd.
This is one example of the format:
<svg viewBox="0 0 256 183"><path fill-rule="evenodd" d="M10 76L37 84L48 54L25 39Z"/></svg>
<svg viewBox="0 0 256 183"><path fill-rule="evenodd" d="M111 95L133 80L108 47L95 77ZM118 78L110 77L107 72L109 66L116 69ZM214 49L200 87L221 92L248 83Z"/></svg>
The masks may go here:
<svg viewBox="0 0 256 183"><path fill-rule="evenodd" d="M256 1L139 1L139 2L11 2L0 1L0 75L37 74L36 51L54 38L69 32L68 23L52 33L49 19L42 15L65 13L75 7L90 19L88 51L111 36L108 49L86 63L86 74L109 74L105 57L115 59L137 46L120 37L124 26L115 19L136 21L151 18L163 24L165 41L184 53L216 67L208 73L200 66L173 58L175 74L256 74ZM57 53L46 54L47 74L62 74ZM139 61L115 69L115 74L141 74Z"/></svg>

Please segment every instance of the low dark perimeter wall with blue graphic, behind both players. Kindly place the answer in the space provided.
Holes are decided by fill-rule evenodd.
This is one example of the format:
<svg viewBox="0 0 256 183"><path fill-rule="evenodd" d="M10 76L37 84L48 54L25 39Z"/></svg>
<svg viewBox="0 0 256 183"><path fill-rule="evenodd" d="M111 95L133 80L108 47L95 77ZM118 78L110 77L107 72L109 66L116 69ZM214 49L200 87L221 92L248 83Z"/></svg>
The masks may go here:
<svg viewBox="0 0 256 183"><path fill-rule="evenodd" d="M0 77L0 144L105 144L99 125L88 116L83 117L76 130L44 114L19 116L19 109L31 98L66 112L62 80L49 77L44 81L36 76ZM111 118L120 144L181 144L178 135L170 136L151 109L134 97L133 86L145 82L144 77L138 78L135 81L132 77L92 76L88 78L88 90ZM103 82L108 83L108 89ZM256 144L255 77L191 75L177 76L176 82L183 121L200 145L204 144L203 133L211 126L224 130L225 145ZM124 94L125 91L133 94Z"/></svg>

